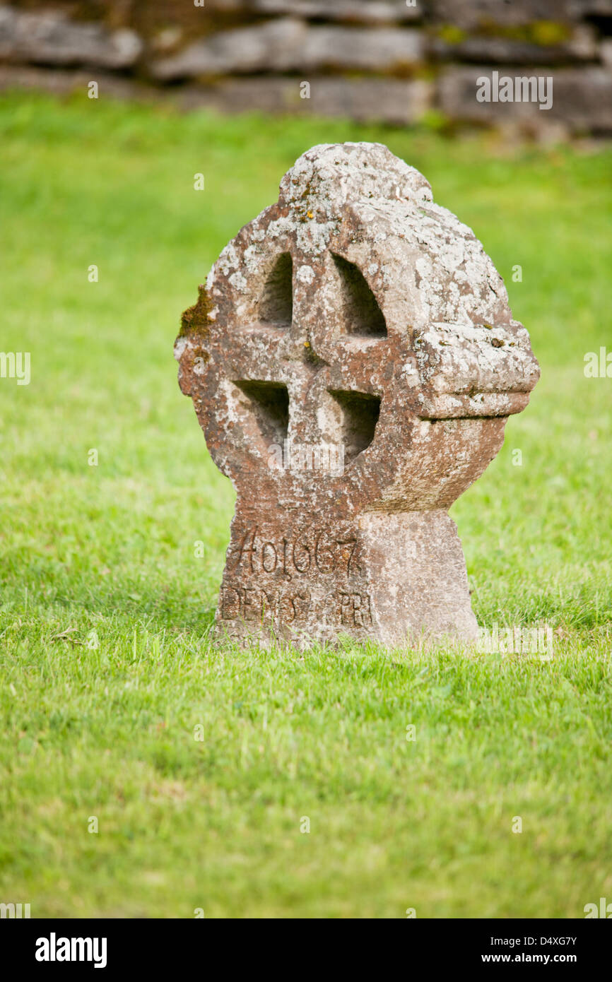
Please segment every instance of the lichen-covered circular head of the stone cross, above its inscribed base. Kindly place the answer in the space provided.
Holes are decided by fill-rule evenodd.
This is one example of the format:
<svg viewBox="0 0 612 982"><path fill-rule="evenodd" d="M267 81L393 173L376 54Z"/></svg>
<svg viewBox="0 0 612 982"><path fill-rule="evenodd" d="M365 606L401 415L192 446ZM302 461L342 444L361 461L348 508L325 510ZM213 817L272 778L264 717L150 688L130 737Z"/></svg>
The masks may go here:
<svg viewBox="0 0 612 982"><path fill-rule="evenodd" d="M176 342L215 463L287 508L448 508L537 381L473 232L378 143L315 146L226 246Z"/></svg>

